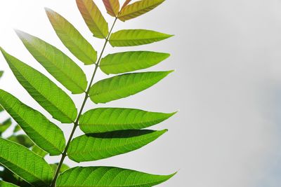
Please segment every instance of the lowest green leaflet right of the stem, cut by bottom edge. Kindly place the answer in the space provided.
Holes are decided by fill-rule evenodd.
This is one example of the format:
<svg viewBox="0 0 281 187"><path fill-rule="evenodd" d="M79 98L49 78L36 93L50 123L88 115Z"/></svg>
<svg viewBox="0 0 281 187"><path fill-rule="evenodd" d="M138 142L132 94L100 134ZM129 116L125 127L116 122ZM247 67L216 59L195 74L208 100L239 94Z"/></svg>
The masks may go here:
<svg viewBox="0 0 281 187"><path fill-rule="evenodd" d="M118 167L74 167L60 174L57 187L150 187L170 179Z"/></svg>

